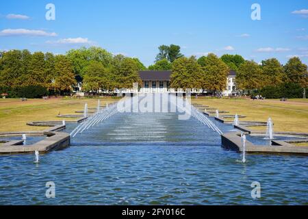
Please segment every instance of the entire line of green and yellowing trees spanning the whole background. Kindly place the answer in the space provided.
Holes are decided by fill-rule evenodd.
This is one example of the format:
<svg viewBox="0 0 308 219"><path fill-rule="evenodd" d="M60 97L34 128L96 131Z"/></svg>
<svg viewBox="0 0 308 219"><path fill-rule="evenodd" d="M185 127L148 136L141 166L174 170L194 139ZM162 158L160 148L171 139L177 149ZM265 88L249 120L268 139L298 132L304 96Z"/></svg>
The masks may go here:
<svg viewBox="0 0 308 219"><path fill-rule="evenodd" d="M298 57L283 66L275 58L257 64L241 55L185 57L175 44L158 49L155 63L148 68L138 58L112 55L100 47L72 49L65 55L5 51L0 58L0 92L63 95L70 94L77 81L83 82L84 92L131 88L134 82L141 85L139 70L172 70L172 88L203 88L212 93L226 89L229 70L237 73L238 90L249 94L278 87L282 90L283 86L294 88L286 86L289 83L299 88L308 85L307 65Z"/></svg>

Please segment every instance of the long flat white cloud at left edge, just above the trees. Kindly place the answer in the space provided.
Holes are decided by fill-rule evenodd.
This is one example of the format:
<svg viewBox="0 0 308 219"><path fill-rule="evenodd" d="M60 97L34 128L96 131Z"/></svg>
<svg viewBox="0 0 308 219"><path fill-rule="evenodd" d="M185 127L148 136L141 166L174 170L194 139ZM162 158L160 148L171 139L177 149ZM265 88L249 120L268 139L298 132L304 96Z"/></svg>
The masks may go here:
<svg viewBox="0 0 308 219"><path fill-rule="evenodd" d="M57 34L37 29L3 29L0 31L0 36L57 36Z"/></svg>

